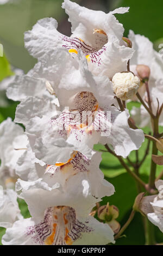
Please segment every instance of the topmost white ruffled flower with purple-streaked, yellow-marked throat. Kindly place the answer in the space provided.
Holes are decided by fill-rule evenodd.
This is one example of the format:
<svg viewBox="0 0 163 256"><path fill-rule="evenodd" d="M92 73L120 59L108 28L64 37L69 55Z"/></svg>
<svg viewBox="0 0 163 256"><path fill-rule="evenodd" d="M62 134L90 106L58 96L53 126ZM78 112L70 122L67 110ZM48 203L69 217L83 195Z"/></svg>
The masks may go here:
<svg viewBox="0 0 163 256"><path fill-rule="evenodd" d="M27 50L39 60L35 69L46 63L47 58L55 58L54 49L66 48L74 58L79 49L82 50L94 75L103 74L112 78L116 72L127 70L127 62L134 51L124 45L124 28L114 14L127 13L129 8L118 8L105 14L80 7L69 0L65 0L62 7L72 24L71 37L60 34L57 21L52 18L39 20L32 31L25 33Z"/></svg>

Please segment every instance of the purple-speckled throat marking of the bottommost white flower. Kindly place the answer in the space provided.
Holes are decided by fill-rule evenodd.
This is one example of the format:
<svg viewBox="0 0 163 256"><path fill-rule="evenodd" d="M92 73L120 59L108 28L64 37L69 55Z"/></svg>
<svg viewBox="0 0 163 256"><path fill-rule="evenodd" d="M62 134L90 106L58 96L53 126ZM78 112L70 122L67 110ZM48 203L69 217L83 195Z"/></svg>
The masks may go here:
<svg viewBox="0 0 163 256"><path fill-rule="evenodd" d="M64 216L66 216L66 222ZM66 245L66 228L68 229L68 236L71 237L72 241L81 238L82 233L93 231L92 228L86 225L89 223L88 221L80 222L77 220L76 212L73 208L69 206L55 206L45 211L45 217L42 222L27 227L26 235L31 236L35 244L45 245L47 237L53 232L54 223L57 224L57 228L53 245Z"/></svg>

